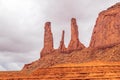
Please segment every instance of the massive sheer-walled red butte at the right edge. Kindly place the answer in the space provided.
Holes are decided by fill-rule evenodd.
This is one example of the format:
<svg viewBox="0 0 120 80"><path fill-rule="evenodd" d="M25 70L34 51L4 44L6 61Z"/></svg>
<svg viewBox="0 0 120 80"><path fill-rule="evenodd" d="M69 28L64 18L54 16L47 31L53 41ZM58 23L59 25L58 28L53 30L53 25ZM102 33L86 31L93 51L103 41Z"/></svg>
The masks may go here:
<svg viewBox="0 0 120 80"><path fill-rule="evenodd" d="M90 47L107 48L120 43L120 3L101 12L93 30Z"/></svg>

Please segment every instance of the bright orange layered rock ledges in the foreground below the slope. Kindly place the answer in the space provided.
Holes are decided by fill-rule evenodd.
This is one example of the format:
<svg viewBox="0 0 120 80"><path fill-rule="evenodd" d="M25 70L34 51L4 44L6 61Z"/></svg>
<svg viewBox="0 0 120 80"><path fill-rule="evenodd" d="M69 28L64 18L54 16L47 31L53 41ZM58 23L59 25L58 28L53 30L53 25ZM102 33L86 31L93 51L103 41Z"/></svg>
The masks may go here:
<svg viewBox="0 0 120 80"><path fill-rule="evenodd" d="M120 80L120 62L66 63L32 72L0 72L0 80Z"/></svg>

